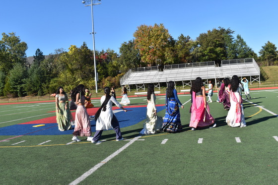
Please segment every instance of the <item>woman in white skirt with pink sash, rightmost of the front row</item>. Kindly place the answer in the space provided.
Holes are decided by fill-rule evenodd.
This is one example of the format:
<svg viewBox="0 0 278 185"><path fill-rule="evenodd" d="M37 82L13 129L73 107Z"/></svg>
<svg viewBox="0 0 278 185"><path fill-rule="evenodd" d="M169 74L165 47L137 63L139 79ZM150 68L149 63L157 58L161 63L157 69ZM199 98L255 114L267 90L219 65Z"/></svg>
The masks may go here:
<svg viewBox="0 0 278 185"><path fill-rule="evenodd" d="M243 104L241 98L241 91L243 90L240 80L237 75L233 75L230 87L230 103L231 107L226 117L226 123L231 127L245 127L245 119L243 112Z"/></svg>

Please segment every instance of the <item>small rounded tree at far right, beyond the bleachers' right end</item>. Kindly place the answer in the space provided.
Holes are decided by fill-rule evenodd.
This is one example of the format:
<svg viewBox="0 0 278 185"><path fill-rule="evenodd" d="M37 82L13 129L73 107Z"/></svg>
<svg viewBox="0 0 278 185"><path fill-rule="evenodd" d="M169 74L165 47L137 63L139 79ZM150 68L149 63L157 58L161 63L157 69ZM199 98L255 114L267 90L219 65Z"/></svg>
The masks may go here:
<svg viewBox="0 0 278 185"><path fill-rule="evenodd" d="M278 60L278 51L275 44L268 41L265 46L262 46L259 54L260 60L267 66L273 65Z"/></svg>

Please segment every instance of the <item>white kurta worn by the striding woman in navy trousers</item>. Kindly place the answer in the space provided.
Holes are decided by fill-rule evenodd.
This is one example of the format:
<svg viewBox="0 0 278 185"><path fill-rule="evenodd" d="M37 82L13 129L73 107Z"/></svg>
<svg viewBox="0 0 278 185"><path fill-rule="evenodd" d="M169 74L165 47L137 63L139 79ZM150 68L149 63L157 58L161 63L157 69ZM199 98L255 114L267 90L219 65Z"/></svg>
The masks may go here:
<svg viewBox="0 0 278 185"><path fill-rule="evenodd" d="M102 96L100 99L100 103L104 102L106 96ZM113 128L112 127L112 118L113 118L113 111L112 111L112 103L114 103L117 107L121 108L122 106L117 102L117 100L111 96L110 100L106 105L106 111L101 111L100 115L96 121L96 130L108 130Z"/></svg>

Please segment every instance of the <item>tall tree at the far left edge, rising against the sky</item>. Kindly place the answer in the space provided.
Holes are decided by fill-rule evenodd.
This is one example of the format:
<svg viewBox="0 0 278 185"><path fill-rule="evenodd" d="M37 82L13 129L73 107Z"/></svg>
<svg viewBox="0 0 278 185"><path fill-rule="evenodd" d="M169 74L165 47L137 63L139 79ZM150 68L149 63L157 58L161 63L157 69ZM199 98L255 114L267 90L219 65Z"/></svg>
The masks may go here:
<svg viewBox="0 0 278 185"><path fill-rule="evenodd" d="M12 69L15 63L26 63L27 44L21 42L15 33L2 33L2 40L0 40L0 70L5 74Z"/></svg>

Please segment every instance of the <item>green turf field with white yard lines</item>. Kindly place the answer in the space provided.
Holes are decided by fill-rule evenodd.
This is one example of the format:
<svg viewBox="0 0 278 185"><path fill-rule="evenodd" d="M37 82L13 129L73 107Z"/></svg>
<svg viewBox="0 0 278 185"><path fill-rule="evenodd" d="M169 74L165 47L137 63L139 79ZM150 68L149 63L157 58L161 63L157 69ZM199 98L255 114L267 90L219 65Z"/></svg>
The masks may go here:
<svg viewBox="0 0 278 185"><path fill-rule="evenodd" d="M248 126L243 128L226 125L227 111L214 94L209 106L217 126L211 129L190 130L190 96L179 95L185 103L179 133L138 137L141 121L121 128L126 140L116 142L115 132L107 130L102 135L106 141L93 144L86 137L70 143L70 134L19 137L0 130L0 141L12 138L0 142L0 184L277 185L278 90L250 94L252 100L244 101ZM132 106L146 105L146 97L130 100ZM156 104L164 103L165 97L157 96ZM98 107L99 100L93 104ZM0 105L0 128L53 117L54 110L53 102Z"/></svg>

